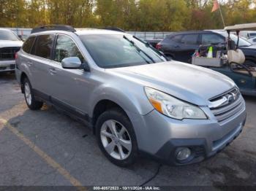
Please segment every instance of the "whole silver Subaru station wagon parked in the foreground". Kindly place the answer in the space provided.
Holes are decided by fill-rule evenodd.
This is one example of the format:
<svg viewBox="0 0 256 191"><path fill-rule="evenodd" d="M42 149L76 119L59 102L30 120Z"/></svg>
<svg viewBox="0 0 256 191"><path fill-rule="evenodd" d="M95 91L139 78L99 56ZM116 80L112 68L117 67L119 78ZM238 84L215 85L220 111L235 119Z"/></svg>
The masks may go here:
<svg viewBox="0 0 256 191"><path fill-rule="evenodd" d="M170 165L200 162L236 139L246 120L232 79L168 61L118 28L34 28L16 63L30 109L47 103L83 120L120 166L138 155Z"/></svg>

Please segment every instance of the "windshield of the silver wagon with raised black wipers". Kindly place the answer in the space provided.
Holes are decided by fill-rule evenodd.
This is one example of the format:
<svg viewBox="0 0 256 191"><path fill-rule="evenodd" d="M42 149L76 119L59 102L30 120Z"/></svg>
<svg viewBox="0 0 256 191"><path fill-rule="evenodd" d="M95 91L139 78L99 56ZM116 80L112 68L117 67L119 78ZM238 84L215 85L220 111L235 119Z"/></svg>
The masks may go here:
<svg viewBox="0 0 256 191"><path fill-rule="evenodd" d="M166 61L159 52L129 34L90 34L81 35L80 39L95 63L104 69Z"/></svg>

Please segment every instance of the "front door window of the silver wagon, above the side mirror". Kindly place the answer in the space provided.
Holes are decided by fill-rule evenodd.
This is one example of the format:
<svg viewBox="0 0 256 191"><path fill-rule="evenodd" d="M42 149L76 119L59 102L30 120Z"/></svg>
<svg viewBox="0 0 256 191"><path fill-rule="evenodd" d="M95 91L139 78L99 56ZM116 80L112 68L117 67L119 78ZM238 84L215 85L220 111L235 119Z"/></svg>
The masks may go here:
<svg viewBox="0 0 256 191"><path fill-rule="evenodd" d="M55 47L54 61L61 62L67 57L78 57L82 63L84 62L83 55L78 50L75 42L69 36L59 34Z"/></svg>

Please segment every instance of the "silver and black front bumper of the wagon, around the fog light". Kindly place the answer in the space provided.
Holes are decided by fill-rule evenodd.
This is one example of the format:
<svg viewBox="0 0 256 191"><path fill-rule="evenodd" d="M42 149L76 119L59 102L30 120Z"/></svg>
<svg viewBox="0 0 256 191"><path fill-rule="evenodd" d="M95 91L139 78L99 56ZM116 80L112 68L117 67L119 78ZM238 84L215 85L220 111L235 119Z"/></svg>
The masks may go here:
<svg viewBox="0 0 256 191"><path fill-rule="evenodd" d="M156 110L137 117L133 125L140 152L170 165L198 163L217 154L241 133L245 106L225 123L219 123L210 109L204 110L210 119L174 120ZM182 162L176 160L180 147L188 147L192 157Z"/></svg>

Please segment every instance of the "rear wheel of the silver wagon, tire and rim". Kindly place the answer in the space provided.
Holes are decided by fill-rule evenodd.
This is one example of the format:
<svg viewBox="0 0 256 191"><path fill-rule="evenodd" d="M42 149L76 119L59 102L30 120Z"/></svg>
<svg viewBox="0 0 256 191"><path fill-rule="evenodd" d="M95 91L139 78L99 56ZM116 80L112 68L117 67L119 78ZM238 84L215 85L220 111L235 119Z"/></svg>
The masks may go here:
<svg viewBox="0 0 256 191"><path fill-rule="evenodd" d="M29 79L25 78L23 80L23 88L24 88L24 97L27 106L31 110L38 110L42 108L42 101L37 101L34 98L34 93L32 91L31 83L29 82Z"/></svg>

